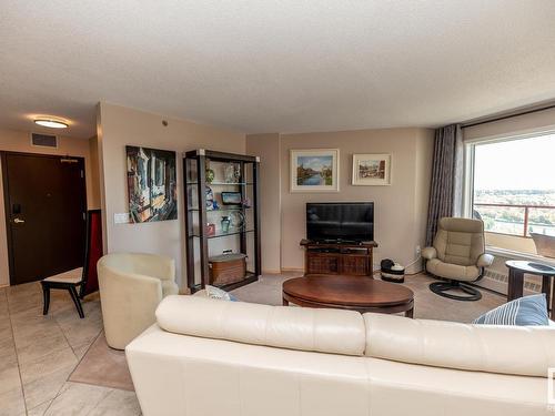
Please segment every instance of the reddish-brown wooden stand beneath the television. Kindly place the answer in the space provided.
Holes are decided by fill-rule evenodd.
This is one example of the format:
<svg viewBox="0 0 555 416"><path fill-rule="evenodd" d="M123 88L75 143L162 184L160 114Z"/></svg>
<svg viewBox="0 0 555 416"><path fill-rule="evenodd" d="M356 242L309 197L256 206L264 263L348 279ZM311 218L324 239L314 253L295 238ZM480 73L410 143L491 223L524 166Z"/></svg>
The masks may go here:
<svg viewBox="0 0 555 416"><path fill-rule="evenodd" d="M316 242L301 240L304 247L304 275L345 274L372 276L372 251L374 241L367 242Z"/></svg>

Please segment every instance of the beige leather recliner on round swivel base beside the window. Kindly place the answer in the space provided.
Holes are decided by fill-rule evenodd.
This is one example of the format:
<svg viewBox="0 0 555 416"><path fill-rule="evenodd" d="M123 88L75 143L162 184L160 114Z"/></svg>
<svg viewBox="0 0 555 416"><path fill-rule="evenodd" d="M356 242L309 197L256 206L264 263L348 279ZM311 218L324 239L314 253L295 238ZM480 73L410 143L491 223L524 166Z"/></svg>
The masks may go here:
<svg viewBox="0 0 555 416"><path fill-rule="evenodd" d="M484 268L492 265L493 255L485 253L484 223L482 220L443 217L437 224L432 247L422 251L426 271L447 282L435 282L430 290L435 294L457 301L478 301L480 291L464 282L483 277ZM464 292L463 295L448 293Z"/></svg>

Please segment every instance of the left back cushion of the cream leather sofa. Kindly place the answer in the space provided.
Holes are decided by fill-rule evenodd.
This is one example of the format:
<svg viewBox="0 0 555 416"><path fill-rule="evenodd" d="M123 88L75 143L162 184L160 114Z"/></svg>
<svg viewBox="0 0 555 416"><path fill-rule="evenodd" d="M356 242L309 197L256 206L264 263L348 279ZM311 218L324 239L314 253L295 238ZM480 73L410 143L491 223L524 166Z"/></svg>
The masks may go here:
<svg viewBox="0 0 555 416"><path fill-rule="evenodd" d="M245 344L345 355L363 355L365 345L364 321L353 311L168 296L157 319L172 333Z"/></svg>

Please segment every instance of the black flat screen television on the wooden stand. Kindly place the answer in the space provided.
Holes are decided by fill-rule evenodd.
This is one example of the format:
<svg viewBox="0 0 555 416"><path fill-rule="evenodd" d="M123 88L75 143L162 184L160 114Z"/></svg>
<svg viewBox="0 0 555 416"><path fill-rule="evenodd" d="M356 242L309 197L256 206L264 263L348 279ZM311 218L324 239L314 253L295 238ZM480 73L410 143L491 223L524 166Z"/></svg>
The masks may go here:
<svg viewBox="0 0 555 416"><path fill-rule="evenodd" d="M306 239L321 242L373 241L374 203L306 203Z"/></svg>

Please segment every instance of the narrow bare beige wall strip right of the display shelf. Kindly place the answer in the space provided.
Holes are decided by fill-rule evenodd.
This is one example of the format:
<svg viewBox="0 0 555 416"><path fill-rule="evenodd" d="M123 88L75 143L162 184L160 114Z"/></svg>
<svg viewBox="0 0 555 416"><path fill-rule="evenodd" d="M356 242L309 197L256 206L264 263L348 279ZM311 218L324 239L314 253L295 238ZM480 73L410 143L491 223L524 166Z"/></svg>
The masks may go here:
<svg viewBox="0 0 555 416"><path fill-rule="evenodd" d="M260 156L261 251L263 273L281 272L280 134L246 135L246 153Z"/></svg>

